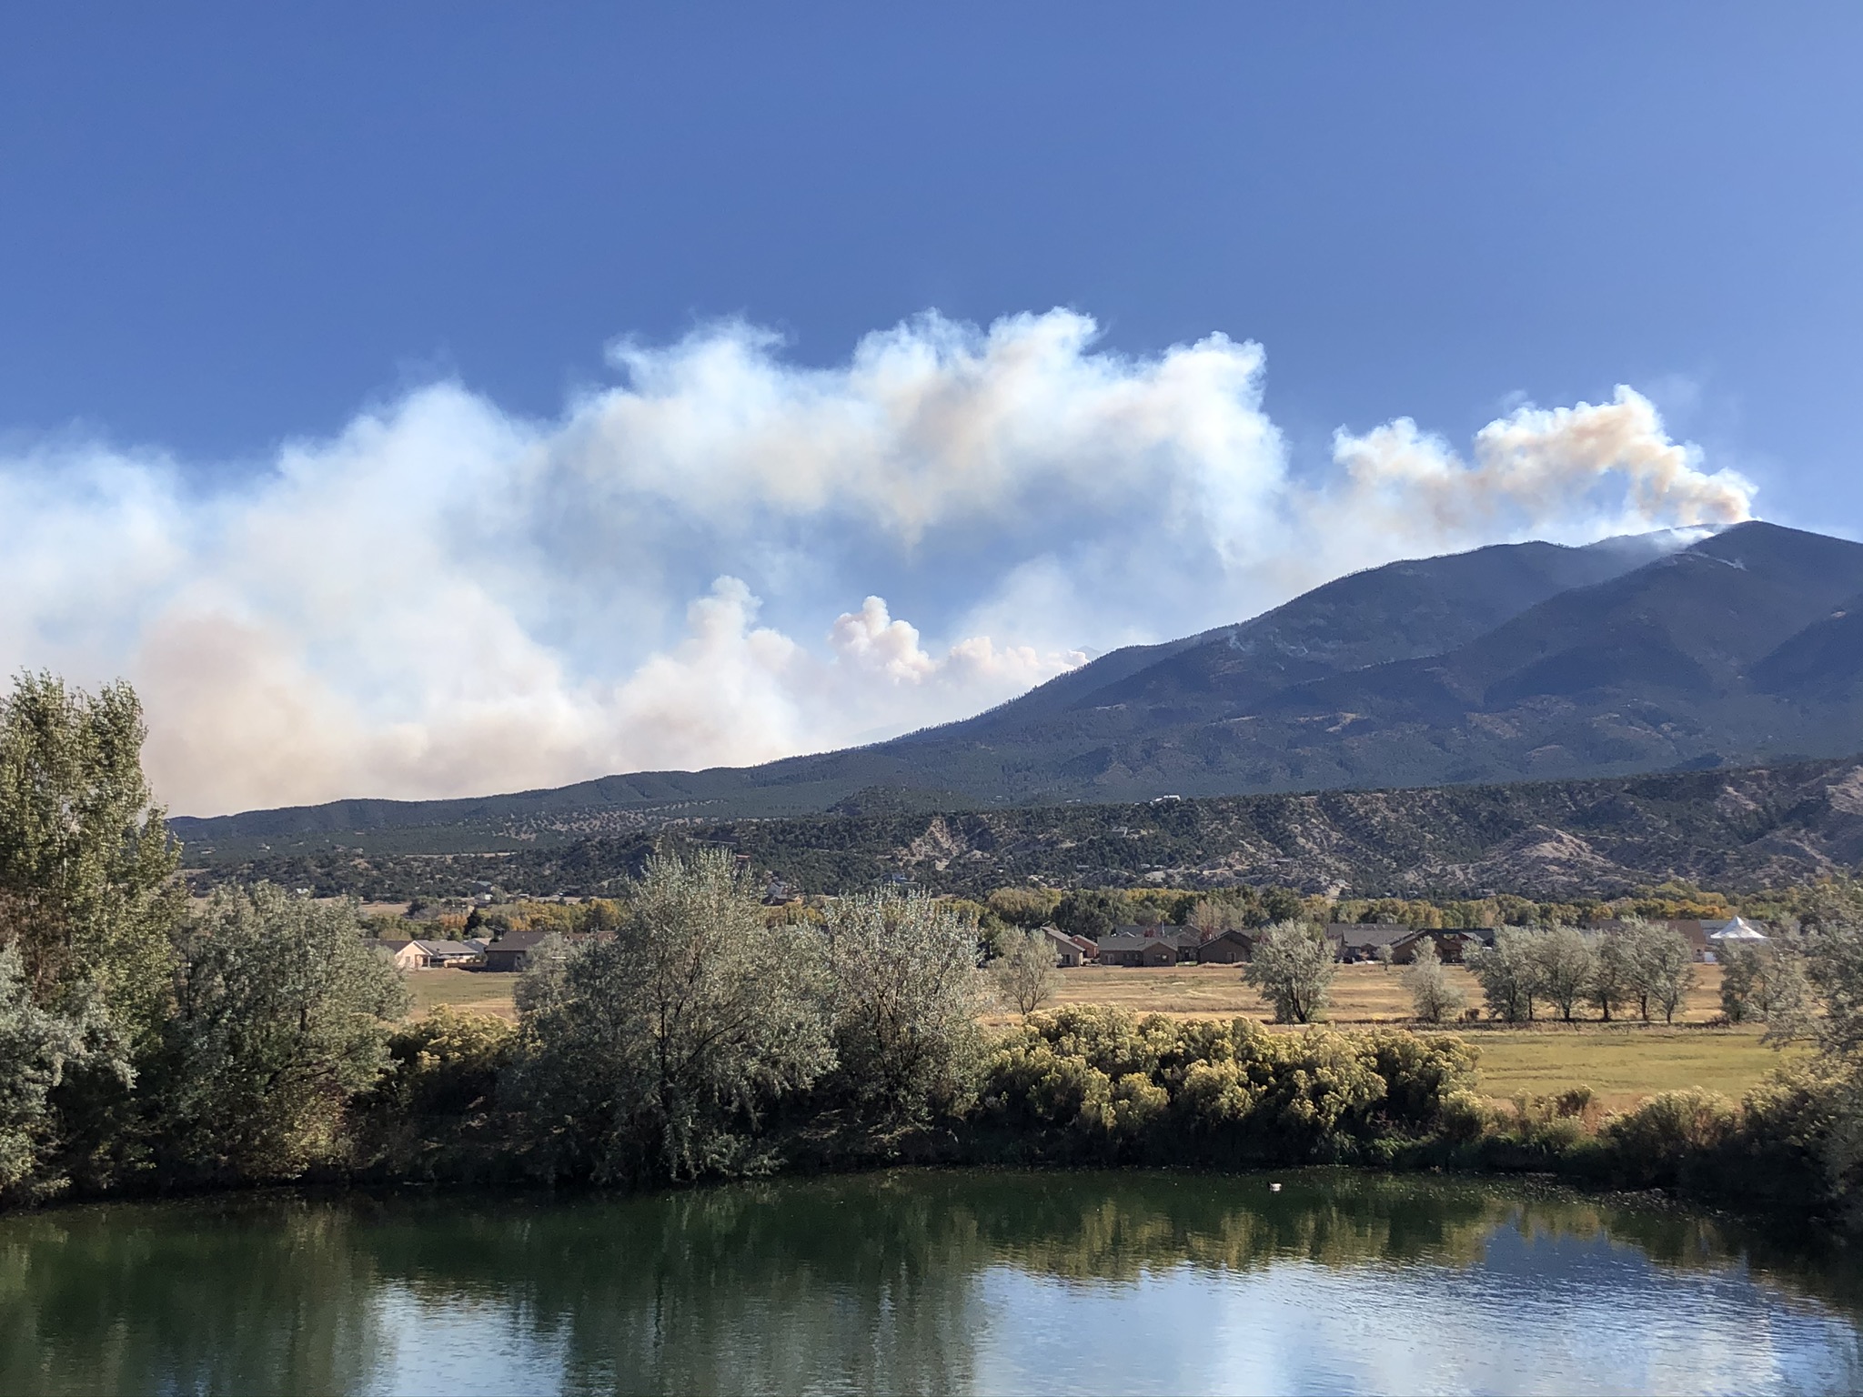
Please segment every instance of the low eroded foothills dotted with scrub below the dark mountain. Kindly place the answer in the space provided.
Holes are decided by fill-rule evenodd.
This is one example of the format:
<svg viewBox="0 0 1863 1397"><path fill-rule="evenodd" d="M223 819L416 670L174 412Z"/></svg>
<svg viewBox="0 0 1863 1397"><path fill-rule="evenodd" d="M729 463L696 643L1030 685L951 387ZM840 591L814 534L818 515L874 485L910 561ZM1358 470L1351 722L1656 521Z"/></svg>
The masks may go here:
<svg viewBox="0 0 1863 1397"><path fill-rule="evenodd" d="M205 885L272 877L378 898L486 888L587 894L656 842L723 844L809 892L891 881L939 892L1027 883L1313 892L1617 896L1684 877L1746 890L1863 866L1863 758L1507 786L1319 792L926 814L876 793L864 814L663 827L477 855L322 851L209 864Z"/></svg>

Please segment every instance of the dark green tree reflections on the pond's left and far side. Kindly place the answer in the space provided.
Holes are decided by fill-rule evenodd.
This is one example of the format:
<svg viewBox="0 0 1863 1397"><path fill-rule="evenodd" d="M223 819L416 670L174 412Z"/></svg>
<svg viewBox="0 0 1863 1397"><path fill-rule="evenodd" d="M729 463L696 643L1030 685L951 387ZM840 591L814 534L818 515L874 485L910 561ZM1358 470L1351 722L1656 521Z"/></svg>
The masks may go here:
<svg viewBox="0 0 1863 1397"><path fill-rule="evenodd" d="M248 1196L0 1220L0 1391L958 1391L1012 1268L1129 1287L1284 1261L1472 1268L1498 1235L1742 1267L1837 1311L1854 1263L1697 1214L1347 1172L879 1173L613 1198ZM1824 1371L1829 1371L1829 1362Z"/></svg>

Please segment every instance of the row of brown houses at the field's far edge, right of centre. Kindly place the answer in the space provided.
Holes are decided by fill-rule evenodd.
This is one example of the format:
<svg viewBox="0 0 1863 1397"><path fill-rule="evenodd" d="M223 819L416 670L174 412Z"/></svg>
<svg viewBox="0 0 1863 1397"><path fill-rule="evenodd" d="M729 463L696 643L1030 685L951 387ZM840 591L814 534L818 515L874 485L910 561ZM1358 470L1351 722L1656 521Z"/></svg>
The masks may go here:
<svg viewBox="0 0 1863 1397"><path fill-rule="evenodd" d="M1764 941L1766 933L1734 916L1721 922L1671 920L1673 931L1680 931L1695 952L1695 959L1712 961L1716 952L1731 941ZM1606 922L1591 928L1595 931L1621 929L1623 922ZM1243 965L1254 954L1263 928L1246 931L1203 933L1190 926L1120 926L1110 935L1090 941L1075 937L1056 928L1045 928L1049 943L1054 946L1054 963L1071 965ZM1332 943L1334 959L1375 961L1388 952L1395 965L1408 965L1416 959L1418 948L1429 939L1436 944L1436 956L1444 965L1461 965L1462 957L1477 946L1494 944L1494 928L1464 929L1420 929L1410 926L1384 926L1360 922L1332 922L1326 928L1326 941Z"/></svg>

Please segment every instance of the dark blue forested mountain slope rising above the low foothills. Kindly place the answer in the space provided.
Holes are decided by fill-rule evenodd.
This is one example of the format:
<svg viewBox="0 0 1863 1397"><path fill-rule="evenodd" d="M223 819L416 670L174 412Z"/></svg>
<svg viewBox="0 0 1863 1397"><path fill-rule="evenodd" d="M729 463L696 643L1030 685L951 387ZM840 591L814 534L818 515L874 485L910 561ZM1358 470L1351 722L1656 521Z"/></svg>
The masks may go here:
<svg viewBox="0 0 1863 1397"><path fill-rule="evenodd" d="M171 820L214 857L520 849L669 821L1492 784L1863 749L1863 544L1744 523L1686 546L1496 544L1127 646L956 723L758 767ZM1854 607L1854 609L1846 609ZM272 846L272 848L261 848Z"/></svg>

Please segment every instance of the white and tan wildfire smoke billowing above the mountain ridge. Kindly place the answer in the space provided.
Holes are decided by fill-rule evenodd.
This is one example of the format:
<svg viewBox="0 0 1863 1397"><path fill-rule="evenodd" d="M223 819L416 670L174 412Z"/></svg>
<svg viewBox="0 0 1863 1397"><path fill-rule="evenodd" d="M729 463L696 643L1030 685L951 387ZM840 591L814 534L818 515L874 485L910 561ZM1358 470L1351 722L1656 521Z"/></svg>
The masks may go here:
<svg viewBox="0 0 1863 1397"><path fill-rule="evenodd" d="M1395 557L1747 516L1630 389L1468 460L1341 432L1302 479L1259 346L1094 339L928 315L805 369L714 326L555 421L442 384L231 486L45 445L0 460L0 659L134 680L177 810L458 795L959 717Z"/></svg>

